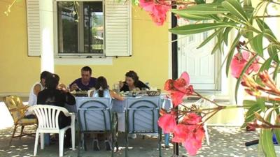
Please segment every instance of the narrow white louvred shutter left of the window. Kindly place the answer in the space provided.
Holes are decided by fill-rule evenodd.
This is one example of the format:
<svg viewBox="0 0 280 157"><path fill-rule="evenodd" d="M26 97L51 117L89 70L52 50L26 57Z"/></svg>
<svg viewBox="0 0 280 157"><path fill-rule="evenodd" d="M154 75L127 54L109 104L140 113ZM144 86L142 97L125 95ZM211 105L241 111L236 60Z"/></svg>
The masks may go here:
<svg viewBox="0 0 280 157"><path fill-rule="evenodd" d="M27 0L28 56L41 55L39 0Z"/></svg>

